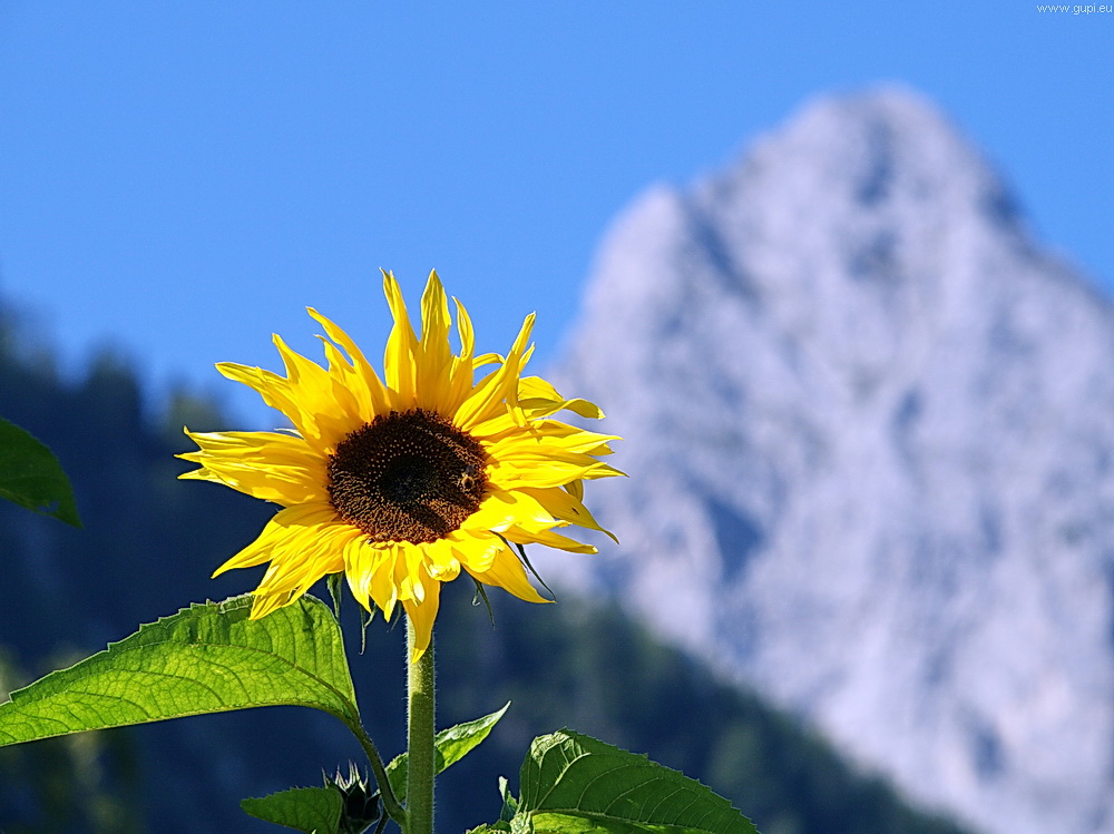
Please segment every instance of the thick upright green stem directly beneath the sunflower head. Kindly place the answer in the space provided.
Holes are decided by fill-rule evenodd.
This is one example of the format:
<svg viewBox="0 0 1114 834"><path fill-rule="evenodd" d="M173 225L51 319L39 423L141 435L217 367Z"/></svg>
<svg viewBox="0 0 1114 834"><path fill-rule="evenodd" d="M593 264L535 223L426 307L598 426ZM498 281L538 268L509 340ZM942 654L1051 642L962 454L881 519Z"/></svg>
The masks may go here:
<svg viewBox="0 0 1114 834"><path fill-rule="evenodd" d="M407 618L407 816L405 834L433 834L433 640L413 656L414 627Z"/></svg>

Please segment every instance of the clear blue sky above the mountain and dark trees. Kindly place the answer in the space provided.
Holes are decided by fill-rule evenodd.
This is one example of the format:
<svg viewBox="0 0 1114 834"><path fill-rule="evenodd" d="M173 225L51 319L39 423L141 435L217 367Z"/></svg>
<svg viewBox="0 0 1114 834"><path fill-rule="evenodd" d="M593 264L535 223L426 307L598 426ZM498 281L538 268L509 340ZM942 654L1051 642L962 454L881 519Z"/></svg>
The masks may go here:
<svg viewBox="0 0 1114 834"><path fill-rule="evenodd" d="M213 363L315 351L305 305L379 355L380 266L416 305L436 266L485 350L537 310L544 363L644 187L891 80L1110 292L1112 71L1114 14L1027 0L0 0L0 297L70 373L111 342L242 428Z"/></svg>

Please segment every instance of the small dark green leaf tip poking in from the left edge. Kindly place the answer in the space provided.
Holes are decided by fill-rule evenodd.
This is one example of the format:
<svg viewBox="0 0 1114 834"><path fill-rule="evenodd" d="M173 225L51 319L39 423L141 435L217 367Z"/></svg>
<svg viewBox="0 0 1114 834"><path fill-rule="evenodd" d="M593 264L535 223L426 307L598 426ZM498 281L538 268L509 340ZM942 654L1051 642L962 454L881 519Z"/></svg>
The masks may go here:
<svg viewBox="0 0 1114 834"><path fill-rule="evenodd" d="M0 418L0 498L81 527L61 464L31 434Z"/></svg>

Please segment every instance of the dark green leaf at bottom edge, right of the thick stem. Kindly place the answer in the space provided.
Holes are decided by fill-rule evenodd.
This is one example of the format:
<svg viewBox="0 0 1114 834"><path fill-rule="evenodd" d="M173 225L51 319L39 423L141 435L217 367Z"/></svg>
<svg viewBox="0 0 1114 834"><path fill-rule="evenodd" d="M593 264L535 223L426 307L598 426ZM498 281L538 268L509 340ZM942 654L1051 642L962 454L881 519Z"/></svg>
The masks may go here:
<svg viewBox="0 0 1114 834"><path fill-rule="evenodd" d="M534 739L520 784L516 833L756 834L701 783L568 729Z"/></svg>

